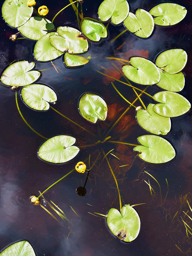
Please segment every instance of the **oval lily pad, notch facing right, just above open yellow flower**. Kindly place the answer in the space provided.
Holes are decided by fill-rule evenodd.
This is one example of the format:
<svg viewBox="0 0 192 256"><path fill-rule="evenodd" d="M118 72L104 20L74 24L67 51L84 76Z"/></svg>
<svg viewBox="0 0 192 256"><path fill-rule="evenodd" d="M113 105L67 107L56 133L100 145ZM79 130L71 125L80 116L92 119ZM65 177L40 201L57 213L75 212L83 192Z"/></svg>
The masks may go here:
<svg viewBox="0 0 192 256"><path fill-rule="evenodd" d="M57 135L46 140L38 150L38 156L51 163L65 163L73 159L79 148L72 146L76 139L69 135Z"/></svg>

